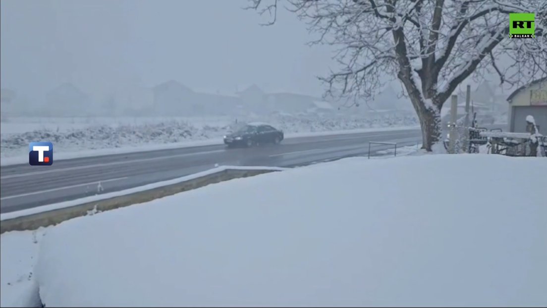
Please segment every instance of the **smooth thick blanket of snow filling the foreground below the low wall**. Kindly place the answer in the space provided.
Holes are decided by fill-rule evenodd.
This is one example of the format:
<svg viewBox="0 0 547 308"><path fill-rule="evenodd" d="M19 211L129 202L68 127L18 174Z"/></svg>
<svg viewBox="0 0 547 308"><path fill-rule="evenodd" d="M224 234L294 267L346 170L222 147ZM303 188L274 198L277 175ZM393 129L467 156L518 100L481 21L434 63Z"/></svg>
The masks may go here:
<svg viewBox="0 0 547 308"><path fill-rule="evenodd" d="M2 306L544 307L544 170L353 158L4 234Z"/></svg>

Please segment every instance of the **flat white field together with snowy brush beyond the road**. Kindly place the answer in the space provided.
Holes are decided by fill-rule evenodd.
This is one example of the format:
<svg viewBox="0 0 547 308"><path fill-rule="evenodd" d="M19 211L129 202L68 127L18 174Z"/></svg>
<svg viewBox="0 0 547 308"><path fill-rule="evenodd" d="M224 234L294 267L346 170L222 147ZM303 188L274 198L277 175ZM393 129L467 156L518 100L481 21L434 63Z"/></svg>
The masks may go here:
<svg viewBox="0 0 547 308"><path fill-rule="evenodd" d="M275 115L239 118L267 122L291 133L317 133L358 129L416 126L412 113L377 117L329 117ZM120 149L143 146L167 146L188 143L221 143L222 136L233 129L235 118L10 118L1 123L2 158L28 155L28 143L53 142L55 153L86 152L92 149ZM142 150L142 149L141 149ZM57 156L58 158L59 156Z"/></svg>

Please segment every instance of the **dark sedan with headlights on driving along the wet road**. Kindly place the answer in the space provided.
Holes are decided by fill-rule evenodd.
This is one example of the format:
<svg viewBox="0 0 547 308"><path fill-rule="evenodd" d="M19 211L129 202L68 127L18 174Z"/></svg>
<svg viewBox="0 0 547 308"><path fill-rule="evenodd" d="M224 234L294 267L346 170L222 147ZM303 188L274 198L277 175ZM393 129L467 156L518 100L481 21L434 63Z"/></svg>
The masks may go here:
<svg viewBox="0 0 547 308"><path fill-rule="evenodd" d="M247 147L267 143L278 144L284 138L283 131L271 125L249 123L236 132L224 136L224 144L228 147Z"/></svg>

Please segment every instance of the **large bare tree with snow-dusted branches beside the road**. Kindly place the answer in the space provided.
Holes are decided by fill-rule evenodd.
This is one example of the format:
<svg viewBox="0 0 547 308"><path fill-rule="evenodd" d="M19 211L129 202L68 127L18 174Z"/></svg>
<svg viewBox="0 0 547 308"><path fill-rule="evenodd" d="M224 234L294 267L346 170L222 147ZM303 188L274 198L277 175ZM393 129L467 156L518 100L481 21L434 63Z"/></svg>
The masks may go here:
<svg viewBox="0 0 547 308"><path fill-rule="evenodd" d="M280 0L249 0L276 21ZM547 75L547 1L287 0L319 35L339 47L340 69L319 78L326 95L370 97L384 76L398 78L420 119L423 148L440 141L440 109L466 78L495 72L501 83ZM536 13L535 38L509 36L509 13ZM391 81L388 80L388 81Z"/></svg>

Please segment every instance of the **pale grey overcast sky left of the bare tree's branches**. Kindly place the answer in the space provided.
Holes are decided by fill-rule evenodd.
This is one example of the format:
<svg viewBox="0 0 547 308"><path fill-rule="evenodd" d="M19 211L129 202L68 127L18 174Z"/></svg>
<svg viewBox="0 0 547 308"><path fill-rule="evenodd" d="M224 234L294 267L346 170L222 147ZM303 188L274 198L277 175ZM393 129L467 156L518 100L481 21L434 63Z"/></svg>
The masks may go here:
<svg viewBox="0 0 547 308"><path fill-rule="evenodd" d="M176 79L190 88L321 95L326 47L307 47L303 22L242 10L246 0L40 0L1 2L1 82L43 97L63 82L85 92L153 86ZM240 89L241 90L241 89Z"/></svg>

